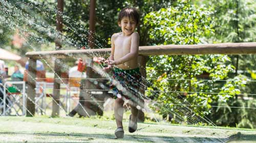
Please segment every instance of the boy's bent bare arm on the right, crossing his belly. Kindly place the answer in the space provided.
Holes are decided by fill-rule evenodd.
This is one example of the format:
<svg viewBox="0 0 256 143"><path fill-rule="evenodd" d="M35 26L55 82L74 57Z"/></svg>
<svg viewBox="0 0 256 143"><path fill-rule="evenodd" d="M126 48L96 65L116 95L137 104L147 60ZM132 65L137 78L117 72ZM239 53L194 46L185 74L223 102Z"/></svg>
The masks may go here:
<svg viewBox="0 0 256 143"><path fill-rule="evenodd" d="M132 34L132 41L131 41L131 50L130 53L126 54L122 58L117 61L113 61L112 65L120 65L127 61L131 61L139 54L139 34L133 33Z"/></svg>

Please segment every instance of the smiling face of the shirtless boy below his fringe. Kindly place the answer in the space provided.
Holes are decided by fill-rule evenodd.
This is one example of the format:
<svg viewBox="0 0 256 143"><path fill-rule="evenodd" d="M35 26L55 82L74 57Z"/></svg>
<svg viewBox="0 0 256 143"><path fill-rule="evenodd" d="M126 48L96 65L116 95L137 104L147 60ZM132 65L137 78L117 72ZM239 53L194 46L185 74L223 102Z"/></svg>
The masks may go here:
<svg viewBox="0 0 256 143"><path fill-rule="evenodd" d="M133 18L123 17L122 20L118 22L118 25L121 27L123 35L128 36L135 31L137 23Z"/></svg>

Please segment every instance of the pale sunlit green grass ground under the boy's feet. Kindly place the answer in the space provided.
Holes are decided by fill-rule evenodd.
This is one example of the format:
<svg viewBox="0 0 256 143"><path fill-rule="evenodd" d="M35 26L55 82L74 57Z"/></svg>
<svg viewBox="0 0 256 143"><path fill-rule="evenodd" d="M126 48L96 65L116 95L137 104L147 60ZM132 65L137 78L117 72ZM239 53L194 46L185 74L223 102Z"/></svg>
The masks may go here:
<svg viewBox="0 0 256 143"><path fill-rule="evenodd" d="M114 121L89 118L0 117L0 142L256 142L256 130L139 123L115 139Z"/></svg>

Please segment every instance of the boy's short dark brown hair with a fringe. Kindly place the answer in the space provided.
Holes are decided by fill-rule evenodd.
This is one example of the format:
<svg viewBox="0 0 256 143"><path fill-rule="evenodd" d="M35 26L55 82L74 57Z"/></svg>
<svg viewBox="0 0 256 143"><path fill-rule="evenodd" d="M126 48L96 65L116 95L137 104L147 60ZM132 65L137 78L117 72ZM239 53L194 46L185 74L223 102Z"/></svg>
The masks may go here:
<svg viewBox="0 0 256 143"><path fill-rule="evenodd" d="M136 8L130 8L130 7L126 7L123 8L118 16L118 22L120 22L122 20L123 17L131 17L136 21L136 24L139 23L139 12Z"/></svg>

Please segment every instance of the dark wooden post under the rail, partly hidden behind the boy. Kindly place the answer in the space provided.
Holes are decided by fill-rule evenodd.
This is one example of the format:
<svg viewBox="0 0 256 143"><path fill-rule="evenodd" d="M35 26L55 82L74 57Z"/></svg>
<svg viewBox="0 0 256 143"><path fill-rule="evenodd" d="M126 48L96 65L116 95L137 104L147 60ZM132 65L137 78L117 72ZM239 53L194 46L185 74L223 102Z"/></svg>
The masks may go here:
<svg viewBox="0 0 256 143"><path fill-rule="evenodd" d="M145 96L145 90L146 90L146 62L148 60L147 56L139 55L138 63L140 68L140 73L142 76L142 83L141 83L141 93ZM144 104L144 100L142 101L142 104ZM142 107L144 108L144 106ZM139 110L138 112L138 122L144 122L145 115L142 110Z"/></svg>

